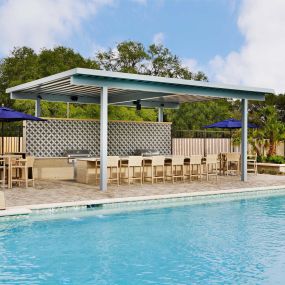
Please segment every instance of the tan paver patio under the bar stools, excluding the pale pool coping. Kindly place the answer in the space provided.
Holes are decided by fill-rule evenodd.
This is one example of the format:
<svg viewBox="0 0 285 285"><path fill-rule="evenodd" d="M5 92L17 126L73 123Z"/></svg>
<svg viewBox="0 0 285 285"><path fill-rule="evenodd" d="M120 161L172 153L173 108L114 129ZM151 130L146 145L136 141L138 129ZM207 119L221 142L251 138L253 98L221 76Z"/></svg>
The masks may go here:
<svg viewBox="0 0 285 285"><path fill-rule="evenodd" d="M219 191L242 188L283 186L285 175L258 174L249 175L248 182L241 182L237 176L221 176L218 182L193 181L191 183L159 183L144 185L110 186L106 192L99 191L98 186L85 185L74 181L36 181L35 188L5 189L6 206L24 206L35 204L62 203L106 198L139 197L163 194L179 194L203 191Z"/></svg>

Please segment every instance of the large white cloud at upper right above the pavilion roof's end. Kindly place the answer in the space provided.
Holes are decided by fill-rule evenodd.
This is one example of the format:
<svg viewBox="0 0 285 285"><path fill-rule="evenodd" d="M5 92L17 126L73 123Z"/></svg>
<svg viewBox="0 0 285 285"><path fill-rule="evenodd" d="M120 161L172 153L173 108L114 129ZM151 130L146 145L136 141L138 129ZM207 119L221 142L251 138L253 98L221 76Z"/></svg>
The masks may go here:
<svg viewBox="0 0 285 285"><path fill-rule="evenodd" d="M238 27L245 38L239 51L210 61L213 78L224 83L285 92L285 1L243 0Z"/></svg>

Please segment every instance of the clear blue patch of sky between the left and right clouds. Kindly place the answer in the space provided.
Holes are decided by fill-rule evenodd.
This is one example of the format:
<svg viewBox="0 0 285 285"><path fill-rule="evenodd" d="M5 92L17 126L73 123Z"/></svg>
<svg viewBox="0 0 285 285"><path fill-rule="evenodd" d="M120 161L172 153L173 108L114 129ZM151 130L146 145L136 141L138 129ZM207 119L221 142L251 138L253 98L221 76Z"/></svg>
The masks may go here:
<svg viewBox="0 0 285 285"><path fill-rule="evenodd" d="M205 65L216 54L225 56L241 46L238 7L238 2L229 0L121 0L84 21L83 32L65 44L89 56L96 46L113 47L123 40L148 45L162 33L163 44L172 52Z"/></svg>

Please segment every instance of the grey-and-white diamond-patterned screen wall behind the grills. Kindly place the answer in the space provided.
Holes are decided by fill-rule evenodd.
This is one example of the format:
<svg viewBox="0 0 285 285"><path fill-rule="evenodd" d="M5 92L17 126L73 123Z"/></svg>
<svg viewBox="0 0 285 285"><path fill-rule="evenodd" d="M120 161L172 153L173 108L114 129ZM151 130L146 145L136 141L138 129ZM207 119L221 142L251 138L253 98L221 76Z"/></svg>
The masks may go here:
<svg viewBox="0 0 285 285"><path fill-rule="evenodd" d="M96 120L50 119L26 122L26 152L35 157L59 157L68 149L100 152L100 124ZM136 149L171 154L171 124L120 122L108 124L108 155L132 155Z"/></svg>

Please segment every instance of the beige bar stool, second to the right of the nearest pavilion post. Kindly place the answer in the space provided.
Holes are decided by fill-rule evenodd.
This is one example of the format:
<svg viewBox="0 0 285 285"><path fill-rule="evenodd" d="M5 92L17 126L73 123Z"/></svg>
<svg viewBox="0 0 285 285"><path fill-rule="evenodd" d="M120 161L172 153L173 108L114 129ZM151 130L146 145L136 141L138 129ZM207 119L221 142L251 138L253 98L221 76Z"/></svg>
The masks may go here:
<svg viewBox="0 0 285 285"><path fill-rule="evenodd" d="M129 156L126 162L120 164L120 181L127 180L128 184L136 180L143 183L143 157L142 156ZM123 171L126 170L127 177L123 177Z"/></svg>

